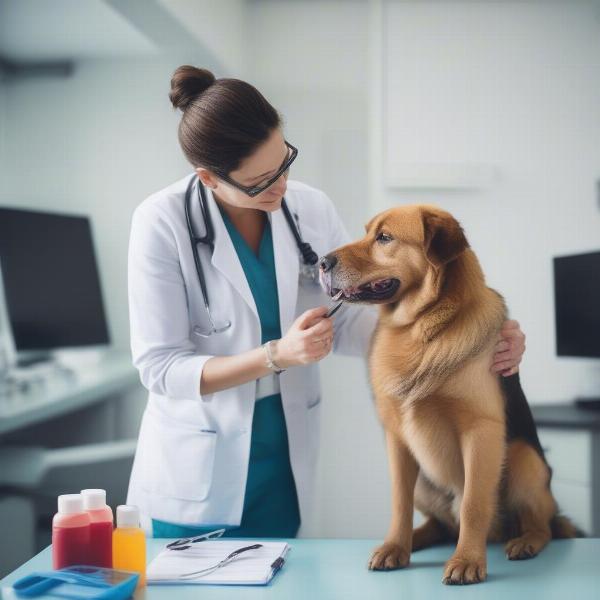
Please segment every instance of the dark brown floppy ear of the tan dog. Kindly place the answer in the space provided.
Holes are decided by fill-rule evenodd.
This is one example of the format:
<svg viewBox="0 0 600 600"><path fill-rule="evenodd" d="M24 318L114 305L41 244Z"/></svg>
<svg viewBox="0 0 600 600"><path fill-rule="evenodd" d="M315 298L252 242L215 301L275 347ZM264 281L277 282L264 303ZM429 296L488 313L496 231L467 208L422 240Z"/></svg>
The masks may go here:
<svg viewBox="0 0 600 600"><path fill-rule="evenodd" d="M423 210L423 247L427 260L435 267L458 258L469 242L459 222L448 213Z"/></svg>

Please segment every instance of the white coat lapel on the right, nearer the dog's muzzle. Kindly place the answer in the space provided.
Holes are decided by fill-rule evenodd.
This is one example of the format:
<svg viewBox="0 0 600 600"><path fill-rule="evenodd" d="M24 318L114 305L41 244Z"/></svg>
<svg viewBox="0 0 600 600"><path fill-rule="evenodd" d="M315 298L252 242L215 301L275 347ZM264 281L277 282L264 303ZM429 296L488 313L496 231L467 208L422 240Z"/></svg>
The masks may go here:
<svg viewBox="0 0 600 600"><path fill-rule="evenodd" d="M283 210L271 213L273 233L273 252L275 255L275 273L277 275L277 293L279 294L279 320L281 335L289 329L296 312L298 299L299 255L294 236L285 220Z"/></svg>

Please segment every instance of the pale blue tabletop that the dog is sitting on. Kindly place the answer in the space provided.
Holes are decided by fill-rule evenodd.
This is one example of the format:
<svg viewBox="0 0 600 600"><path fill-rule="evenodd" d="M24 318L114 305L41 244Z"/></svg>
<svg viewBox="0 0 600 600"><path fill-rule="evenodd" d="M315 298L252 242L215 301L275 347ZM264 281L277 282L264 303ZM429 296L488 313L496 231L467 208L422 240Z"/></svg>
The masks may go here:
<svg viewBox="0 0 600 600"><path fill-rule="evenodd" d="M148 540L151 560L167 540ZM6 542L3 542L6 543ZM488 547L488 579L471 586L442 584L444 562L452 546L415 552L404 570L372 572L366 568L375 540L291 540L283 569L266 587L149 586L135 598L204 600L235 598L277 600L403 600L486 598L553 600L598 598L600 539L556 540L532 560L508 561L502 546ZM50 548L0 581L0 587L34 570L49 569Z"/></svg>

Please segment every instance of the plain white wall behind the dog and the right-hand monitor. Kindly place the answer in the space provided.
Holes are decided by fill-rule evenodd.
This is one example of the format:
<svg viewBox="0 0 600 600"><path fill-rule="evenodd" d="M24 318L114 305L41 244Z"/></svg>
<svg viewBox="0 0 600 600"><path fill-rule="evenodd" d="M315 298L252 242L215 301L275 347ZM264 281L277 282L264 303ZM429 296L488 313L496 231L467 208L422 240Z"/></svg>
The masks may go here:
<svg viewBox="0 0 600 600"><path fill-rule="evenodd" d="M498 177L481 190L391 190L380 168L378 210L433 202L459 218L527 334L532 402L597 395L599 361L555 356L551 259L600 248L600 4L382 4L371 157L483 163Z"/></svg>

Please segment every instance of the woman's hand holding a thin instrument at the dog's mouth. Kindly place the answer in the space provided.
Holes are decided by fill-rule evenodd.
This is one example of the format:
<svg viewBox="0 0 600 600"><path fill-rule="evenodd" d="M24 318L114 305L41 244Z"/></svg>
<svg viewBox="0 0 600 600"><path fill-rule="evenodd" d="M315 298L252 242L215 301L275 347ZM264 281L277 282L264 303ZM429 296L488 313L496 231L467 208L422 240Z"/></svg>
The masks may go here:
<svg viewBox="0 0 600 600"><path fill-rule="evenodd" d="M333 319L326 319L327 307L302 313L288 332L274 344L273 361L281 369L307 365L325 358L333 343Z"/></svg>

